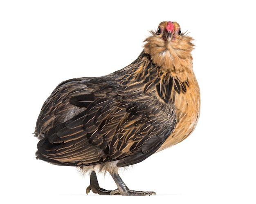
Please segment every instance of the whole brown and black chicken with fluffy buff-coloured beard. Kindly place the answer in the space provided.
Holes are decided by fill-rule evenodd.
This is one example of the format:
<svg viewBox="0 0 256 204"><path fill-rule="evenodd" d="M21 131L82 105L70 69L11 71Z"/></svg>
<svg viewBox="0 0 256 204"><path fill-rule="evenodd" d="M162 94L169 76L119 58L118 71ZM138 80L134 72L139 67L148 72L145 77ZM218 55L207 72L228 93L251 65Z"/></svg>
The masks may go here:
<svg viewBox="0 0 256 204"><path fill-rule="evenodd" d="M36 158L90 172L86 193L155 194L130 190L118 168L181 142L198 122L193 38L171 21L161 22L151 34L130 65L102 77L62 82L40 111ZM117 189L100 188L98 172L109 172Z"/></svg>

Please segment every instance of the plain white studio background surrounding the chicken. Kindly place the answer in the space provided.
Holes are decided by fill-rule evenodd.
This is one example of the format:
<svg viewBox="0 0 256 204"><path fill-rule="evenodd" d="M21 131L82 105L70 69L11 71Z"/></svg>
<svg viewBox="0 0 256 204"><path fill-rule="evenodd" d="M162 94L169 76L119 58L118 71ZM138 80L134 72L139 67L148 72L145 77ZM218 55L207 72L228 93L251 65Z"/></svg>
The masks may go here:
<svg viewBox="0 0 256 204"><path fill-rule="evenodd" d="M252 1L0 2L1 203L255 203L255 6ZM89 177L35 159L36 119L56 85L121 69L148 30L171 20L195 38L201 116L182 143L121 177L156 196L85 194ZM116 188L109 175L101 187Z"/></svg>

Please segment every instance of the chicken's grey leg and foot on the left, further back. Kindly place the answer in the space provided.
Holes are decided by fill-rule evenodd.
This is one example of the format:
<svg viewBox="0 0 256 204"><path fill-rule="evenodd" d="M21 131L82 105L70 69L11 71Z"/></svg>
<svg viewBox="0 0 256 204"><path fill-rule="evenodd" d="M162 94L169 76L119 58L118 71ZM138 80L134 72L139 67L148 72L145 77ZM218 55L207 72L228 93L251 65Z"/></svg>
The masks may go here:
<svg viewBox="0 0 256 204"><path fill-rule="evenodd" d="M90 186L86 188L86 193L88 194L90 190L92 190L93 193L98 193L99 195L110 195L110 193L115 194L112 193L112 191L108 191L104 188L99 187L99 182L95 171L92 171L90 175ZM117 192L116 194L120 193Z"/></svg>

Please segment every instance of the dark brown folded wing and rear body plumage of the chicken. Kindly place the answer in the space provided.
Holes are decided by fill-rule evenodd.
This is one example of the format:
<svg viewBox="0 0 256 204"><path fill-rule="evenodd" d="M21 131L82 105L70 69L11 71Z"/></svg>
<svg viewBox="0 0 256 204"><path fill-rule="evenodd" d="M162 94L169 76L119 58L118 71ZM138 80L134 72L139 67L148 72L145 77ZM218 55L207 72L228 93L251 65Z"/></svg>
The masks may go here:
<svg viewBox="0 0 256 204"><path fill-rule="evenodd" d="M119 160L118 167L127 166L155 153L171 134L174 107L143 94L144 84L100 84L96 78L63 82L47 99L36 129L43 137L39 159L70 166Z"/></svg>

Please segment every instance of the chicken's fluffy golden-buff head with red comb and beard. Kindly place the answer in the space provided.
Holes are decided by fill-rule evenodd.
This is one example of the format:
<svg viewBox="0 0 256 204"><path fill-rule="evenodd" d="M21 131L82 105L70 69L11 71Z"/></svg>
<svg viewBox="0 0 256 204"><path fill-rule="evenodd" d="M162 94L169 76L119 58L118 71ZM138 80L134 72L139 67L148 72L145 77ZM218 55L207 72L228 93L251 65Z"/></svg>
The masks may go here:
<svg viewBox="0 0 256 204"><path fill-rule="evenodd" d="M169 31L171 31L171 37ZM164 71L172 72L173 75L185 70L192 71L193 38L186 33L181 33L177 22L161 22L157 31L151 31L151 34L144 41L144 51L150 54L157 66Z"/></svg>

